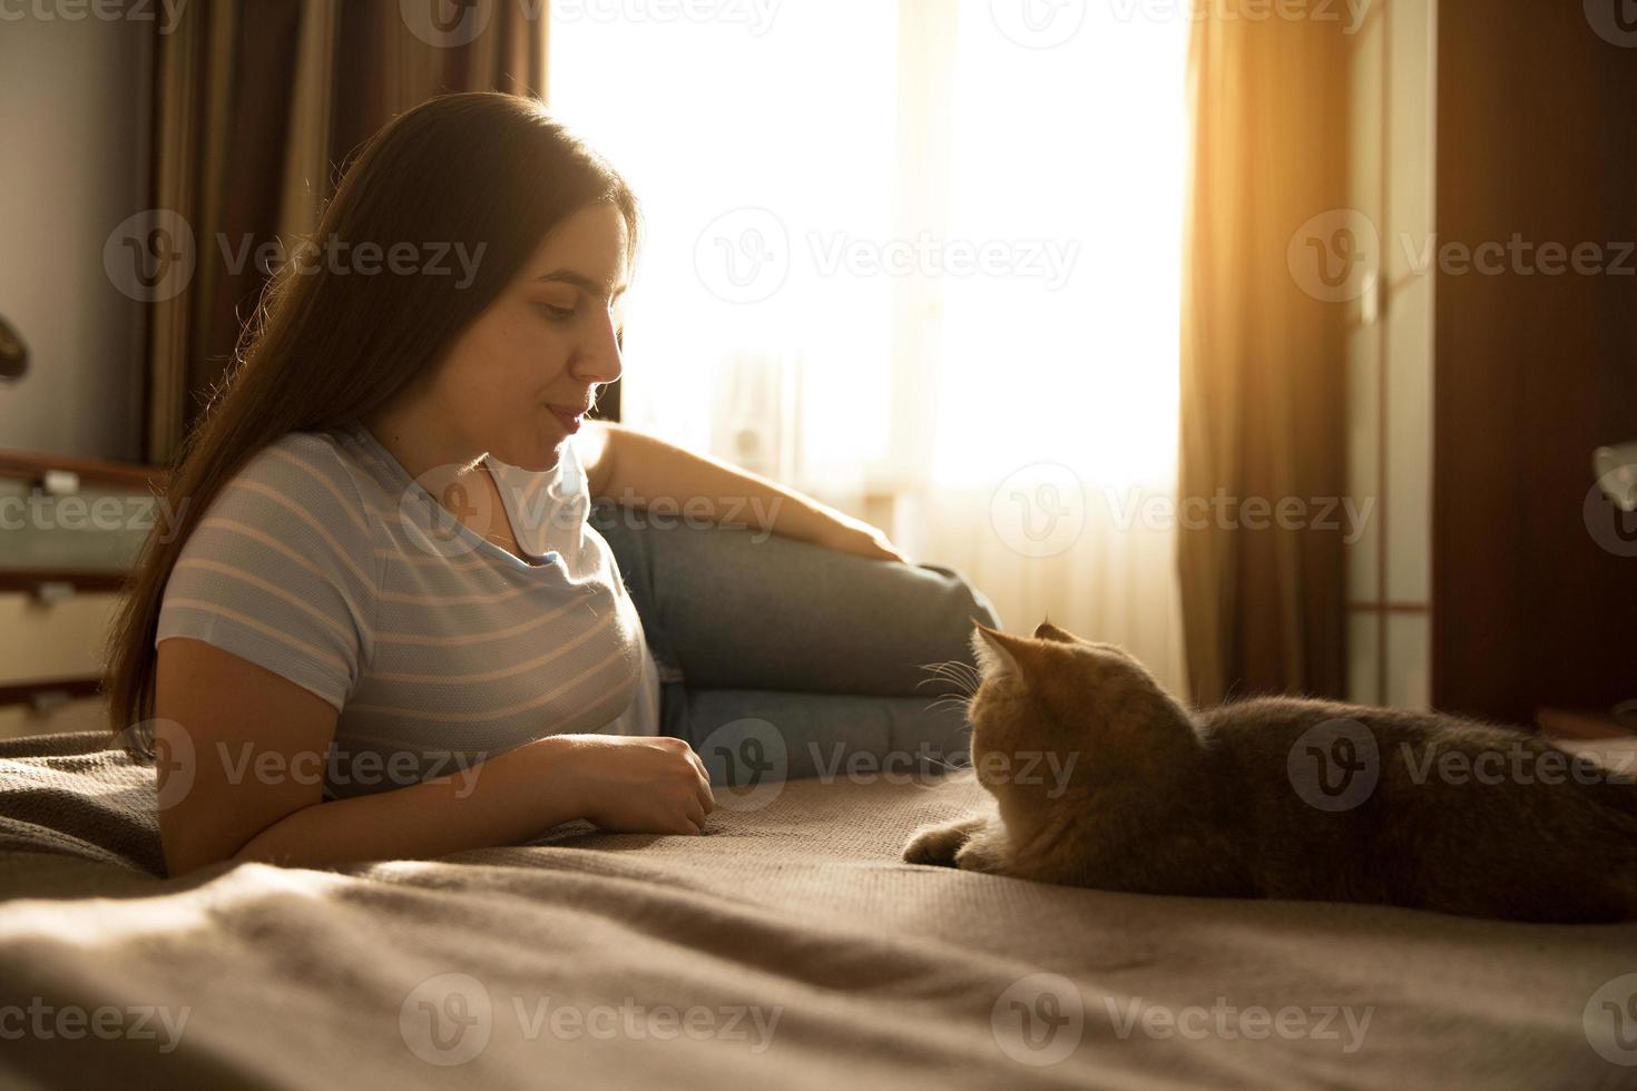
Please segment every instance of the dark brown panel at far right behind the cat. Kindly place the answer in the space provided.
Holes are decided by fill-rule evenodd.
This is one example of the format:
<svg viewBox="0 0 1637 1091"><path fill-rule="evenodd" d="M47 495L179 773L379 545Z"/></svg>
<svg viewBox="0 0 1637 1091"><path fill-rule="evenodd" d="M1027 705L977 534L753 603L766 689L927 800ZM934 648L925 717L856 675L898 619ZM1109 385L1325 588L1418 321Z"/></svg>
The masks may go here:
<svg viewBox="0 0 1637 1091"><path fill-rule="evenodd" d="M1432 703L1604 713L1637 697L1632 525L1591 469L1637 438L1637 28L1614 3L1444 0L1437 18L1439 240L1540 250L1501 276L1436 273ZM1545 273L1549 242L1594 244L1609 275Z"/></svg>

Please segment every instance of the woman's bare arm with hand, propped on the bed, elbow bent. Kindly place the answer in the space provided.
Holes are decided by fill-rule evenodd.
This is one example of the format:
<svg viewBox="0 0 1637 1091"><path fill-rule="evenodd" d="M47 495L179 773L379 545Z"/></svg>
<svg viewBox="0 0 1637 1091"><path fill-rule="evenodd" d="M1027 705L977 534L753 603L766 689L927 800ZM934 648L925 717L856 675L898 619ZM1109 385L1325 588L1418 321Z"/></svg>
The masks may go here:
<svg viewBox="0 0 1637 1091"><path fill-rule="evenodd" d="M172 875L221 860L329 867L519 844L573 818L699 833L715 806L681 739L558 734L462 774L324 801L336 710L198 640L159 643L159 831Z"/></svg>

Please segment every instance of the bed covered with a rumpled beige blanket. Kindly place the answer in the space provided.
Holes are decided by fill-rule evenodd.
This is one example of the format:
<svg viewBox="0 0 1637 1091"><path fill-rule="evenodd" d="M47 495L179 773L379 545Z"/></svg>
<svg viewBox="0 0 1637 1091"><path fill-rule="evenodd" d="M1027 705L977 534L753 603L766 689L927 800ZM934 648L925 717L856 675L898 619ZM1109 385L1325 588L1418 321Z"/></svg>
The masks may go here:
<svg viewBox="0 0 1637 1091"><path fill-rule="evenodd" d="M101 748L0 743L5 1088L1637 1086L1637 924L912 867L981 797L918 777L170 880L152 770Z"/></svg>

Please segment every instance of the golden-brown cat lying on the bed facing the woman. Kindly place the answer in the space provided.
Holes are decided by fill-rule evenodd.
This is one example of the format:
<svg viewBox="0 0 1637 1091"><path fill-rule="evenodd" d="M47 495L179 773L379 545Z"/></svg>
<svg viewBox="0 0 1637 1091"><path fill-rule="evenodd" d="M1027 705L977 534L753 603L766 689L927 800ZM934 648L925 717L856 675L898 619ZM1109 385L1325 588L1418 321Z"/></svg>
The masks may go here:
<svg viewBox="0 0 1637 1091"><path fill-rule="evenodd" d="M904 859L1152 895L1637 919L1637 785L1457 716L1290 697L1190 712L1113 644L977 625L992 798ZM969 664L967 669L971 671Z"/></svg>

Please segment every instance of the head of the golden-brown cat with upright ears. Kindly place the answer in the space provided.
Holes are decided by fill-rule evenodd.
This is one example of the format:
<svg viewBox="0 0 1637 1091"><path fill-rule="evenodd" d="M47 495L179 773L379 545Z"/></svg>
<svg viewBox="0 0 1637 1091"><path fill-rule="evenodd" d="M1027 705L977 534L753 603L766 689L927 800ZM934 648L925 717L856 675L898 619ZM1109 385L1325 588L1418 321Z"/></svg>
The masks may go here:
<svg viewBox="0 0 1637 1091"><path fill-rule="evenodd" d="M972 765L1002 803L1161 772L1198 746L1188 712L1115 644L979 623L972 653Z"/></svg>

